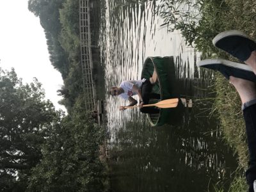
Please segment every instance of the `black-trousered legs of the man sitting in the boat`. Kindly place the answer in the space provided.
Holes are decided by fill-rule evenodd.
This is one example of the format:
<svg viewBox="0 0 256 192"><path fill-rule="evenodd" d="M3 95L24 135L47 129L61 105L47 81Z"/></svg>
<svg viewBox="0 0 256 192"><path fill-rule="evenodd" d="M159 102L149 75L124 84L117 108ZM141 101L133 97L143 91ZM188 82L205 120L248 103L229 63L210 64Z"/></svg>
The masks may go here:
<svg viewBox="0 0 256 192"><path fill-rule="evenodd" d="M149 80L146 80L141 86L141 95L144 104L148 104L152 97L152 84ZM151 96L151 97L150 97ZM156 95L154 95L156 96ZM157 96L156 96L157 97ZM140 108L141 113L159 113L159 109L155 107Z"/></svg>

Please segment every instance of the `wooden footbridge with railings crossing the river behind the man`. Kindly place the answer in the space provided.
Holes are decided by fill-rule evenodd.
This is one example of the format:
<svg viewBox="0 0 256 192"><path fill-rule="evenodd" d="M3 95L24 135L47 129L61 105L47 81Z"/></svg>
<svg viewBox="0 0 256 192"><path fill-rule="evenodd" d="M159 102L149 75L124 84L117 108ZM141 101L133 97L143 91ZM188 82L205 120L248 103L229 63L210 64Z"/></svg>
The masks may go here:
<svg viewBox="0 0 256 192"><path fill-rule="evenodd" d="M104 152L108 159L108 127L107 117L102 109L103 103L97 101L95 82L93 81L93 58L92 58L92 35L90 24L90 0L79 1L79 25L80 25L80 47L81 47L81 68L83 74L84 101L86 111L90 112L104 127Z"/></svg>

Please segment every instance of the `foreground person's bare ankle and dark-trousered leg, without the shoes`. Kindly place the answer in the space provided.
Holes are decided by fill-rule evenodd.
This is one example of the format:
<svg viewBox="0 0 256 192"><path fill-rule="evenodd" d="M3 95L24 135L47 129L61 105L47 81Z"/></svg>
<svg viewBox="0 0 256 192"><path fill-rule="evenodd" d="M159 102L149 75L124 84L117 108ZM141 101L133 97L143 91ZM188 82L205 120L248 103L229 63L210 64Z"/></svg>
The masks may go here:
<svg viewBox="0 0 256 192"><path fill-rule="evenodd" d="M256 84L252 81L230 76L243 103L243 115L246 127L247 143L250 161L246 171L249 191L253 192L253 182L256 180Z"/></svg>

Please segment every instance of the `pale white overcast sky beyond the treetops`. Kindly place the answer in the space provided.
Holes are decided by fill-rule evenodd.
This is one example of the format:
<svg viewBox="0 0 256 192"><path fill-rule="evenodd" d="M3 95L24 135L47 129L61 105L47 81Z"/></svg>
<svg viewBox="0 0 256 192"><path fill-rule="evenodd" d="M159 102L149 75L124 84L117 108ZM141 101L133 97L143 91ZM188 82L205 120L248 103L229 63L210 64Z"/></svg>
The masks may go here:
<svg viewBox="0 0 256 192"><path fill-rule="evenodd" d="M28 0L0 0L0 67L15 68L23 83L31 83L36 77L45 89L56 109L61 97L57 90L63 80L49 60L44 29L38 17L28 10Z"/></svg>

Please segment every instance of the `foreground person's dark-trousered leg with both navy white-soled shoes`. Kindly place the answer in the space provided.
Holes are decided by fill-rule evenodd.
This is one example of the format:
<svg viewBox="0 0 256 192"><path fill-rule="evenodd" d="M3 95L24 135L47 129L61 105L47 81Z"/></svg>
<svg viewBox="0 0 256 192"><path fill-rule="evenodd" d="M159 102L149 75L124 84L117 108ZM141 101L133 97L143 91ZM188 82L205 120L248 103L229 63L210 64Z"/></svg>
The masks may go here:
<svg viewBox="0 0 256 192"><path fill-rule="evenodd" d="M248 191L256 192L256 43L236 30L220 33L212 43L246 64L216 59L200 61L198 66L218 70L239 93L249 149L246 180Z"/></svg>

